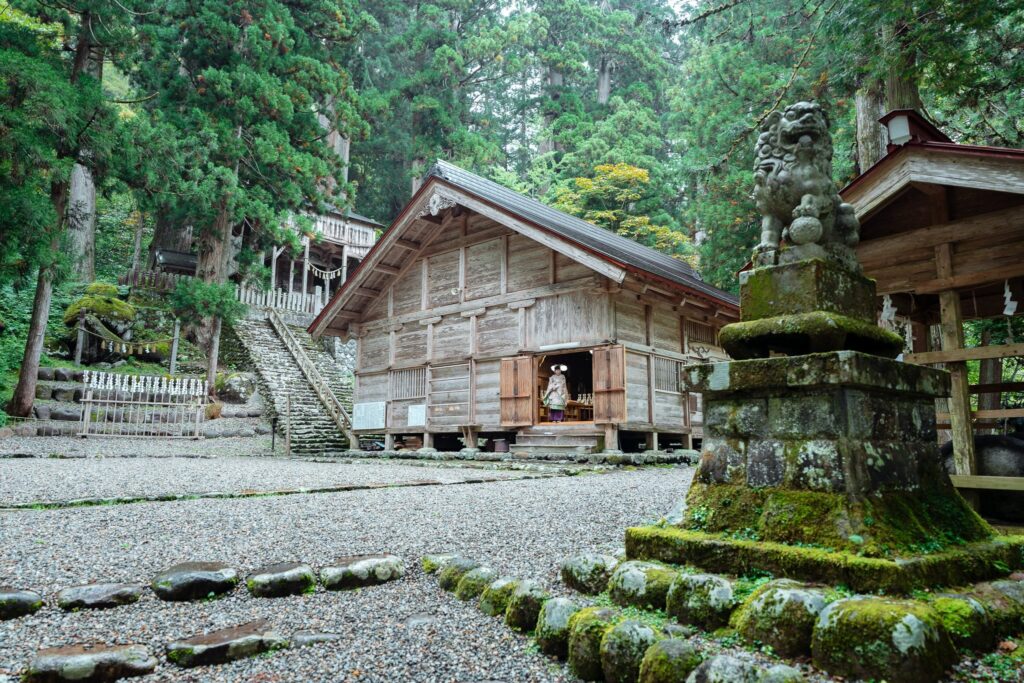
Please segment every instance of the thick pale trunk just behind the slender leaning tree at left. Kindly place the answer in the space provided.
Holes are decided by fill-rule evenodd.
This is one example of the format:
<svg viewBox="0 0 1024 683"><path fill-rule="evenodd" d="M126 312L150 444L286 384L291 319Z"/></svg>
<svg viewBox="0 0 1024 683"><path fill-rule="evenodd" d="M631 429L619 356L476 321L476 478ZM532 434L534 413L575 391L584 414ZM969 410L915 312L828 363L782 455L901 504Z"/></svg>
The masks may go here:
<svg viewBox="0 0 1024 683"><path fill-rule="evenodd" d="M103 79L102 48L86 48L85 73L97 81ZM88 150L80 156L88 159ZM68 256L72 272L79 282L91 283L96 278L96 181L84 164L75 164L71 173L68 205Z"/></svg>

